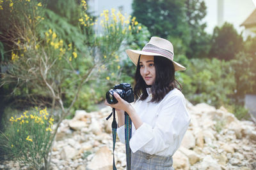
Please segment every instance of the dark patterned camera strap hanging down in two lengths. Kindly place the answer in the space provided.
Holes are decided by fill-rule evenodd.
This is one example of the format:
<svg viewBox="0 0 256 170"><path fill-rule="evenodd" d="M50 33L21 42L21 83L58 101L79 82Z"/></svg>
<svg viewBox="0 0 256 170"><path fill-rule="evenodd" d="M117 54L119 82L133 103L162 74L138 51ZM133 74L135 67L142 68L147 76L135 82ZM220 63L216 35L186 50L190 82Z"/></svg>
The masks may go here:
<svg viewBox="0 0 256 170"><path fill-rule="evenodd" d="M115 108L113 108L112 113L106 118L108 120L113 115L112 122L112 137L113 137L113 170L116 170L115 166L115 144L116 144L116 117L115 117ZM125 112L125 152L126 152L126 165L127 170L131 170L131 148L129 141L132 136L132 121L129 115Z"/></svg>

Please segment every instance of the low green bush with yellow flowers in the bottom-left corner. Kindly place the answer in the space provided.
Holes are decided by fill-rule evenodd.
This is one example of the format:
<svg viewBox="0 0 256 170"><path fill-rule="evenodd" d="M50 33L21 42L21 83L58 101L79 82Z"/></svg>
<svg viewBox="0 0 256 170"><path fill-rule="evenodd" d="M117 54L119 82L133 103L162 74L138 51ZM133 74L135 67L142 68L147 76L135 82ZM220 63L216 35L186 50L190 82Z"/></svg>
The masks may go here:
<svg viewBox="0 0 256 170"><path fill-rule="evenodd" d="M51 148L53 121L46 108L11 117L10 126L1 134L2 148L19 164L35 169L44 167Z"/></svg>

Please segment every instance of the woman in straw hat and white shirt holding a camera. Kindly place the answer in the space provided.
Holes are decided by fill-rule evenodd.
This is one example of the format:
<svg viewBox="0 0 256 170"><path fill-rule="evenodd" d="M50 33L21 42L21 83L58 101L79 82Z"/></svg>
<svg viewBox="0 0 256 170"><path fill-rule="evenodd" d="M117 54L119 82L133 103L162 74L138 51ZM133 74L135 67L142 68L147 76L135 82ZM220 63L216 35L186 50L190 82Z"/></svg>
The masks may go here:
<svg viewBox="0 0 256 170"><path fill-rule="evenodd" d="M133 106L114 94L118 137L124 138L124 111L132 120L131 169L173 169L172 155L188 129L190 117L175 71L185 70L173 61L170 41L152 37L143 50L126 50L137 66Z"/></svg>

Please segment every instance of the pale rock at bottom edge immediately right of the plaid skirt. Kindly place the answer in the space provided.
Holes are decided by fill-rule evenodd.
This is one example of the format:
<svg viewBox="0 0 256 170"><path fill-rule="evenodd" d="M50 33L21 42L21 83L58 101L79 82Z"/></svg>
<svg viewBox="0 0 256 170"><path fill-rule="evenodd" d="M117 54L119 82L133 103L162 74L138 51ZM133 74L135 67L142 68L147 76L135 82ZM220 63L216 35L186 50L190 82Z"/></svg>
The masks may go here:
<svg viewBox="0 0 256 170"><path fill-rule="evenodd" d="M173 155L173 167L174 169L189 170L188 157L178 150Z"/></svg>

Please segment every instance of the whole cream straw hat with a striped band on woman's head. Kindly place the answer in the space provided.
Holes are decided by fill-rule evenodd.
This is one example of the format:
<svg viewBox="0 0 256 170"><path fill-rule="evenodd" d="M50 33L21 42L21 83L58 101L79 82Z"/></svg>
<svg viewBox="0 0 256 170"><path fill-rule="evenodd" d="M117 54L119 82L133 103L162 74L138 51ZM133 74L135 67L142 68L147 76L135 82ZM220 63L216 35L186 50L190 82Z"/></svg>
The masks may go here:
<svg viewBox="0 0 256 170"><path fill-rule="evenodd" d="M175 71L185 70L186 67L173 60L173 46L172 43L166 39L152 37L150 41L140 50L125 50L132 62L137 66L140 55L154 55L166 57L172 60Z"/></svg>

